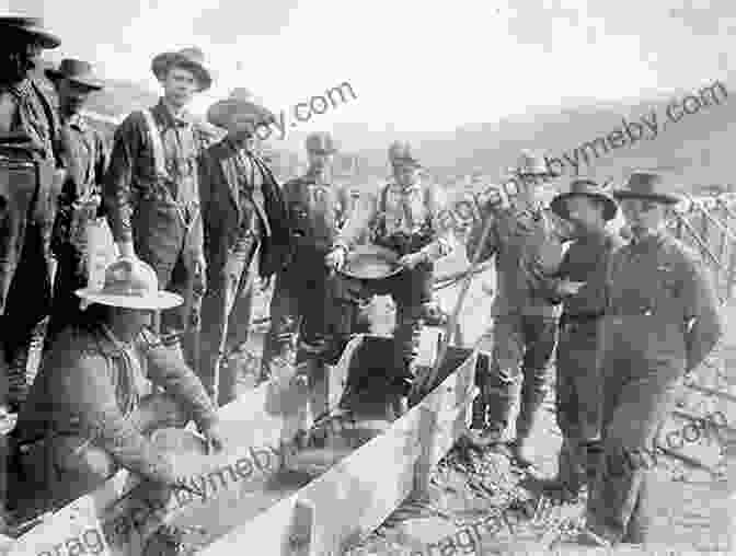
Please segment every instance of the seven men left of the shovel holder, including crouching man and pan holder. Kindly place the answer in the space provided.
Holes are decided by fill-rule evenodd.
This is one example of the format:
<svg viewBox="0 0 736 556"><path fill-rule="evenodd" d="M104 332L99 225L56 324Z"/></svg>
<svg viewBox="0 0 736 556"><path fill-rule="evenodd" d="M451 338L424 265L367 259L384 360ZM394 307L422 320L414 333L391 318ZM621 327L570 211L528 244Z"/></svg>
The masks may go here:
<svg viewBox="0 0 736 556"><path fill-rule="evenodd" d="M326 370L353 331L357 303L391 294L399 313L399 397L406 397L434 263L451 246L437 219L436 187L421 179L410 144L390 147L393 179L361 197L355 210L332 181L337 148L329 134L308 137L309 171L281 188L256 149L255 130L274 114L237 89L207 111L209 124L226 131L211 141L186 108L212 79L202 51L185 48L152 59L160 102L133 112L108 152L80 115L103 88L92 66L65 59L47 70L57 112L31 72L41 49L58 46L58 37L28 18L4 18L0 28L2 61L13 69L0 74L3 162L16 164L20 151L49 175L41 184L11 176L0 192L12 209L22 185L31 194L10 217L14 234L3 229L9 257L0 273L9 287L0 375L50 314L42 364L18 404L11 437L14 509L58 507L120 467L191 488L186 479L196 470L157 449L150 435L194 420L208 443L222 445L216 408L235 398L238 382L237 367L226 361L246 339L244 308L256 281L274 275L264 378L272 362L295 356L298 337L294 380L311 393L312 416L324 416ZM35 211L27 208L34 204ZM101 219L119 256L93 283L95 246L88 232ZM392 250L400 271L372 281L336 273L366 240ZM42 292L45 304L30 311Z"/></svg>

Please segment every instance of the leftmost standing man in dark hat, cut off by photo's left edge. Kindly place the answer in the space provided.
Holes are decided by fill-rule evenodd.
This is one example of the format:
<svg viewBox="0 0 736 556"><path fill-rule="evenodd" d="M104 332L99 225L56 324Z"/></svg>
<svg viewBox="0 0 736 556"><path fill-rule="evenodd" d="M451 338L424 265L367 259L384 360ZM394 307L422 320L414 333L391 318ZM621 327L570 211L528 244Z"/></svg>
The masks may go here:
<svg viewBox="0 0 736 556"><path fill-rule="evenodd" d="M11 366L25 367L31 336L48 315L51 296L50 235L62 181L58 123L51 104L31 79L42 49L60 40L39 19L0 18L0 419L10 399ZM22 389L21 395L25 394ZM15 407L12 407L15 406ZM7 487L7 443L0 436L0 529Z"/></svg>

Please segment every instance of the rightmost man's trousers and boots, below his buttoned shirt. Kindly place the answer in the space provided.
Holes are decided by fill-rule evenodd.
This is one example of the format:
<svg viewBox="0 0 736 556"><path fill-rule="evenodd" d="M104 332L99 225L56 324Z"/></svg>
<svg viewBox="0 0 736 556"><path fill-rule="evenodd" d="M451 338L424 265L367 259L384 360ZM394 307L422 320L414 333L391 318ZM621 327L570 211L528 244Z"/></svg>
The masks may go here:
<svg viewBox="0 0 736 556"><path fill-rule="evenodd" d="M659 488L652 454L685 374L682 325L607 317L603 334L603 455L588 498L588 528L613 542L643 542L669 496Z"/></svg>

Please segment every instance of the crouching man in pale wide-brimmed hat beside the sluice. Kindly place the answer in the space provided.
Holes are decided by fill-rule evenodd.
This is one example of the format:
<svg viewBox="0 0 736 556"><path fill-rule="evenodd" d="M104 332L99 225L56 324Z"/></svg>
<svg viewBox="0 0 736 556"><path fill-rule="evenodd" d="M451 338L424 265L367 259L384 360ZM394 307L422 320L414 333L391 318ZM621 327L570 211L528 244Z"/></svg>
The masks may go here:
<svg viewBox="0 0 736 556"><path fill-rule="evenodd" d="M160 290L153 269L137 258L111 264L102 287L77 294L89 304L83 318L57 336L19 416L14 435L25 475L19 496L35 491L64 503L119 467L183 485L186 462L166 457L148 436L194 419L215 448L222 439L202 383L150 331L152 313L181 305L182 298Z"/></svg>

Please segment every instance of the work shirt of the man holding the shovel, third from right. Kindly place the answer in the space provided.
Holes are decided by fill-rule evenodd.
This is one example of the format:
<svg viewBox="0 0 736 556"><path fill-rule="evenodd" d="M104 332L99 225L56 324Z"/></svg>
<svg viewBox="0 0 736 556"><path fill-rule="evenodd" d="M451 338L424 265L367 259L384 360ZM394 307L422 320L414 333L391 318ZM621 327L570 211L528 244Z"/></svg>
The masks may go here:
<svg viewBox="0 0 736 556"><path fill-rule="evenodd" d="M529 314L556 317L559 305L547 298L563 256L568 228L551 210L538 202L495 210L491 232L482 246L480 262L496 256L497 291L493 316ZM468 258L475 253L483 222L468 240Z"/></svg>

